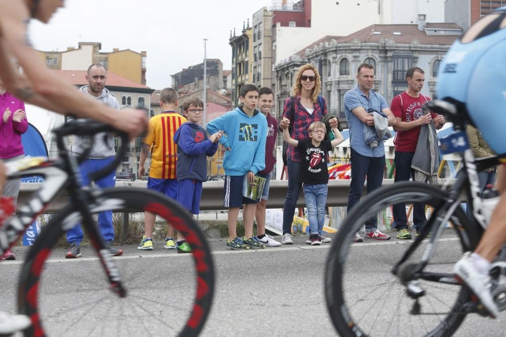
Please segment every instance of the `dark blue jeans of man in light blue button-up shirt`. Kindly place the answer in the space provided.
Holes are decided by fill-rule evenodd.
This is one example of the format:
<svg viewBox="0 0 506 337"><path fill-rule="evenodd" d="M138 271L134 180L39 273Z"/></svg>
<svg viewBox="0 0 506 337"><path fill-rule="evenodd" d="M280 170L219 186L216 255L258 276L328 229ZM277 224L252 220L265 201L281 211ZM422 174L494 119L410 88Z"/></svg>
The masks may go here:
<svg viewBox="0 0 506 337"><path fill-rule="evenodd" d="M351 149L351 182L350 194L348 195L349 212L362 197L362 189L367 177L367 193L381 187L383 184L383 175L385 170L385 156L383 157L365 157ZM373 232L377 229L377 217L371 218L365 222L365 230Z"/></svg>

